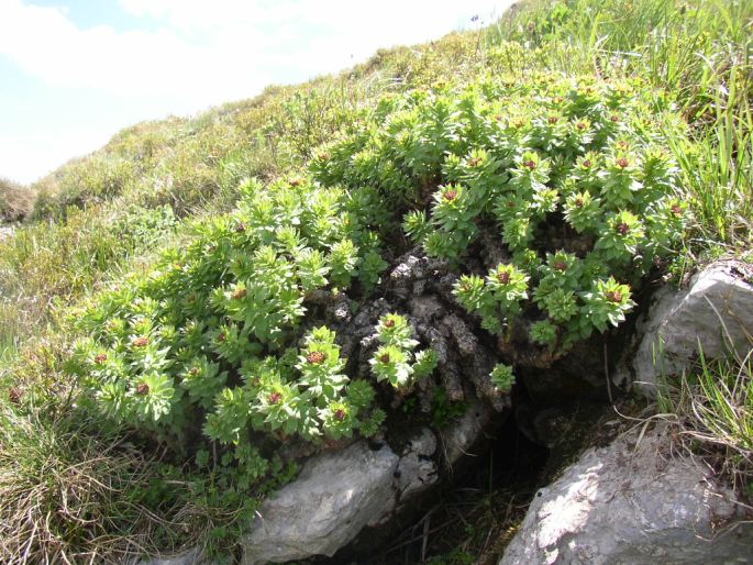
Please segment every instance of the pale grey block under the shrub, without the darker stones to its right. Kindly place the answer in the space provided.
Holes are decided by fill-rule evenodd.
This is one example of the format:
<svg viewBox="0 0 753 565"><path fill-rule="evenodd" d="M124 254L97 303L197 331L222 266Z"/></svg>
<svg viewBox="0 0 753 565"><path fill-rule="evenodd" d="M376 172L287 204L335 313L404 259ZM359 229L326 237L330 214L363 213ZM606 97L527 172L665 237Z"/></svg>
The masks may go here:
<svg viewBox="0 0 753 565"><path fill-rule="evenodd" d="M294 483L262 505L242 540L244 564L332 556L392 511L397 466L389 447L372 451L363 441L308 461Z"/></svg>

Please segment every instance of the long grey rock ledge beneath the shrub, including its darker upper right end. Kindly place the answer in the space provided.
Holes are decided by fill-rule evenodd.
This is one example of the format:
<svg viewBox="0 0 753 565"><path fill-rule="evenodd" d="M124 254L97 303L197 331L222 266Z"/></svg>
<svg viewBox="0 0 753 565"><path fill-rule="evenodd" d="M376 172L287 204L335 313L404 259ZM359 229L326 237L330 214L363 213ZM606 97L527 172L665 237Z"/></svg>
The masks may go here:
<svg viewBox="0 0 753 565"><path fill-rule="evenodd" d="M450 465L467 454L494 417L476 401L441 435ZM439 481L440 441L428 428L407 437L400 456L365 441L313 456L299 477L262 505L242 541L245 565L332 556L364 527L385 523Z"/></svg>

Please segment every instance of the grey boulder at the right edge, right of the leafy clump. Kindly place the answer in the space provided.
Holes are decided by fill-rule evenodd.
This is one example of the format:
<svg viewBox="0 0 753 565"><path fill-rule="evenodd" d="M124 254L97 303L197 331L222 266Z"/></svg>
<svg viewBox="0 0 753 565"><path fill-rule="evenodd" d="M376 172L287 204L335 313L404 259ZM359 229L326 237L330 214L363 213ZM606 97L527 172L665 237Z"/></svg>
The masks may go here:
<svg viewBox="0 0 753 565"><path fill-rule="evenodd" d="M710 265L682 291L663 289L638 322L633 347L617 373L655 395L661 375L680 374L702 353L718 358L753 343L753 269L735 261ZM633 353L634 352L634 353Z"/></svg>

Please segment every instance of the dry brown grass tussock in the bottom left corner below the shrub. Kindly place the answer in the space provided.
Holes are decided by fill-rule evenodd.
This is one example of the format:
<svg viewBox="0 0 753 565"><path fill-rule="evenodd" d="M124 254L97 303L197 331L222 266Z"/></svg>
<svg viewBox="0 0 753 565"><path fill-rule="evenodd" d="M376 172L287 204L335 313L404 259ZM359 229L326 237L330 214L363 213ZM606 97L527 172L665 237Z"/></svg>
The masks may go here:
<svg viewBox="0 0 753 565"><path fill-rule="evenodd" d="M155 468L135 448L43 417L44 411L24 413L11 403L18 397L5 400L0 400L0 563L123 563L155 553L156 538L164 543L165 534L180 528L130 495Z"/></svg>

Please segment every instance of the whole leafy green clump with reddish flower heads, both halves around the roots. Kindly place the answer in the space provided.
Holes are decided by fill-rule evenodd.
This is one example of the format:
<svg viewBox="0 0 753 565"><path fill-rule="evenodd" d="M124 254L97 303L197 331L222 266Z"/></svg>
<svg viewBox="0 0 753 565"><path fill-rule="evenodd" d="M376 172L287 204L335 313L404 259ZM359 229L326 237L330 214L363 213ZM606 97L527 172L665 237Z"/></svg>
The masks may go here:
<svg viewBox="0 0 753 565"><path fill-rule="evenodd" d="M524 320L560 355L618 325L682 233L663 128L679 134L671 104L636 81L536 75L386 97L314 152L310 176L244 182L234 213L77 315L85 402L176 451L200 433L250 480L280 445L372 435L375 389L412 394L440 356L391 313L355 370L321 304L388 295L387 259L411 245L451 266L478 331L505 341ZM513 381L510 365L490 370L497 394Z"/></svg>

